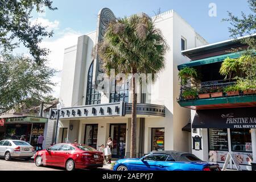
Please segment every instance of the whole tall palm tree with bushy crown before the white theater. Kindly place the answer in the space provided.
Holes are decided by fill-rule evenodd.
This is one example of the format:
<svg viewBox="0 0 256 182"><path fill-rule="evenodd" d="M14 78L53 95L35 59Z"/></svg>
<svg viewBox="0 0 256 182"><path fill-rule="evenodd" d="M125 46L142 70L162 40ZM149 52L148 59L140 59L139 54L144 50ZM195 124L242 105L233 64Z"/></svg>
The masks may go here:
<svg viewBox="0 0 256 182"><path fill-rule="evenodd" d="M138 74L159 73L165 67L164 55L167 44L152 19L146 15L132 15L110 22L104 40L98 43L97 53L103 61L107 75L110 69L115 73ZM137 134L137 93L135 77L132 78L132 111L131 111L131 157L136 157Z"/></svg>

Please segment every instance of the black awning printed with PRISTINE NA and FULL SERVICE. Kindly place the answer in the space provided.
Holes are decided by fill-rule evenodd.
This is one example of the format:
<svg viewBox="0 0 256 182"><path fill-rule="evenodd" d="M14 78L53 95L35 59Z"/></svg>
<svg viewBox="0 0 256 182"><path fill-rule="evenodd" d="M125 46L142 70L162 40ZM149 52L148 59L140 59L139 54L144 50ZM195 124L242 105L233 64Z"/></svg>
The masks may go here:
<svg viewBox="0 0 256 182"><path fill-rule="evenodd" d="M256 129L256 107L197 110L192 128Z"/></svg>

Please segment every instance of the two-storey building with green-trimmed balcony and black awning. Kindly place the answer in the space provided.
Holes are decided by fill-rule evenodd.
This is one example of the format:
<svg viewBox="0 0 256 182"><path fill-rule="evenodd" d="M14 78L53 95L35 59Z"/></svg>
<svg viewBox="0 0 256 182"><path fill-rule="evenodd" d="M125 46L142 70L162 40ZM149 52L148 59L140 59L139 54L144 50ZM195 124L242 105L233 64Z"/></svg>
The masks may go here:
<svg viewBox="0 0 256 182"><path fill-rule="evenodd" d="M177 68L194 68L201 80L197 86L181 85L178 103L191 109L193 154L222 167L229 152L240 169L251 170L256 160L256 93L227 91L225 88L236 85L236 80L220 74L226 58L238 59L247 48L241 39L182 51L191 61ZM185 98L183 93L189 89L197 89L197 96ZM228 168L236 169L232 159L227 162Z"/></svg>

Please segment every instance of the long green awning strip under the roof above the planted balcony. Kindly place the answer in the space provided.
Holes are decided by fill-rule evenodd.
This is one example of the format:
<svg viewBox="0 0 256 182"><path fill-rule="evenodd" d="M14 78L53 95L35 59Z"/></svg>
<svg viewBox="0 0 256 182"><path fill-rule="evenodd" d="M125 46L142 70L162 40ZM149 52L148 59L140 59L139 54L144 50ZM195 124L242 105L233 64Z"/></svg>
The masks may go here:
<svg viewBox="0 0 256 182"><path fill-rule="evenodd" d="M242 55L242 51L228 53L226 55L207 57L205 59L194 60L194 61L189 61L188 63L185 63L185 64L180 64L177 66L177 68L180 70L185 67L197 67L197 66L204 65L204 64L217 63L217 62L221 62L221 61L225 60L227 57L229 57L231 59L236 59L236 58L240 57L241 55Z"/></svg>

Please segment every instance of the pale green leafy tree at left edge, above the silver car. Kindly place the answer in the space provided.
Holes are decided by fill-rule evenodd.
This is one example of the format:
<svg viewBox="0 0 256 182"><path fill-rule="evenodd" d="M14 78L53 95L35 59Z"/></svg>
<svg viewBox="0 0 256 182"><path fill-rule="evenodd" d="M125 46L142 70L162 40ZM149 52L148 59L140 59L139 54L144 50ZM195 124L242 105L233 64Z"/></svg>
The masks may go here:
<svg viewBox="0 0 256 182"><path fill-rule="evenodd" d="M0 114L21 105L44 101L55 83L55 69L36 64L28 57L0 57Z"/></svg>

